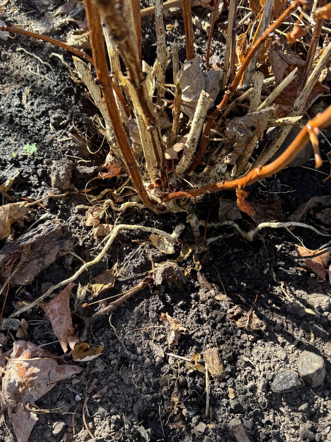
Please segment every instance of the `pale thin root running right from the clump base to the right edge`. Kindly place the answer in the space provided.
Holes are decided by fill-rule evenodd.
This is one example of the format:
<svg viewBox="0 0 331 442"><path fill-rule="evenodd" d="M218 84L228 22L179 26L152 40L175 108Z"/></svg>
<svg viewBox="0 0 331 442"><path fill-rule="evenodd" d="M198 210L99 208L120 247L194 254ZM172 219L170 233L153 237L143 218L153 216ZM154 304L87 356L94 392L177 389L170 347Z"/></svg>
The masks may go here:
<svg viewBox="0 0 331 442"><path fill-rule="evenodd" d="M312 230L313 232L317 233L317 235L321 235L321 236L330 236L327 233L322 233L319 230L315 229L315 227L302 223L302 222L295 222L295 221L287 221L287 222L263 222L260 223L259 225L257 225L254 229L249 230L249 232L245 232L243 229L241 229L241 227L239 225L237 225L236 222L234 221L223 221L223 222L210 222L207 224L207 229L211 229L212 227L221 227L223 225L227 225L230 227L233 227L234 229L237 230L237 232L245 239L248 240L250 242L252 242L254 240L255 235L260 232L260 230L262 229L281 229L281 228L285 228L285 229L289 229L290 227L302 227L304 229L309 229ZM204 220L199 220L199 227L205 227L205 221ZM218 240L219 238L222 238L223 235L214 237L214 238L209 238L207 240L207 245Z"/></svg>

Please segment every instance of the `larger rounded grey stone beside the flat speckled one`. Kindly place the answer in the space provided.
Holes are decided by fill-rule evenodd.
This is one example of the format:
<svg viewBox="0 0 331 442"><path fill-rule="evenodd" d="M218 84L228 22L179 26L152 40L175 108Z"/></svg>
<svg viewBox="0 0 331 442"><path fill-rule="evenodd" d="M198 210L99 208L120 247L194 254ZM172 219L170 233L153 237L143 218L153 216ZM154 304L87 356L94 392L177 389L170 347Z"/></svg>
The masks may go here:
<svg viewBox="0 0 331 442"><path fill-rule="evenodd" d="M325 376L325 364L322 354L313 345L308 345L297 359L300 377L311 387L321 385Z"/></svg>

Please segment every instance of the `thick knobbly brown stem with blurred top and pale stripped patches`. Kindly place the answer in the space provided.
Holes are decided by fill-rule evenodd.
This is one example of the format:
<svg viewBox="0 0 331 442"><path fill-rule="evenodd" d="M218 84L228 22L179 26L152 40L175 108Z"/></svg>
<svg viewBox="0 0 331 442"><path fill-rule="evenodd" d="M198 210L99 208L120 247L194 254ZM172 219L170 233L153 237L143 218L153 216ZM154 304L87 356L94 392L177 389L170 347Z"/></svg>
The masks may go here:
<svg viewBox="0 0 331 442"><path fill-rule="evenodd" d="M127 0L125 0L127 1ZM130 38L128 25L114 0L94 0L100 13L109 28L109 33L120 50L124 64L127 69L127 83L130 88L130 95L139 115L143 117L147 130L150 131L150 138L153 146L153 155L156 168L160 174L162 188L169 189L169 177L165 152L162 144L161 130L158 126L158 119L153 110L153 103L150 99L146 74L141 69L138 49ZM131 87L130 87L131 86Z"/></svg>

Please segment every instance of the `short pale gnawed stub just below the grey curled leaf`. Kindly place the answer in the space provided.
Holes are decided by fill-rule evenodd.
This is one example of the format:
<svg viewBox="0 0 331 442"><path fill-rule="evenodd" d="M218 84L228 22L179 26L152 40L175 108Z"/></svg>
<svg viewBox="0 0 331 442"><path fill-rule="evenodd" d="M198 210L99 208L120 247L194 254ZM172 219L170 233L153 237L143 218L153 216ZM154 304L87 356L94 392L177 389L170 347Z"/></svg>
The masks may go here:
<svg viewBox="0 0 331 442"><path fill-rule="evenodd" d="M203 128L203 124L207 115L207 111L212 103L212 99L205 91L201 91L196 111L191 124L190 132L184 145L184 153L181 160L177 164L176 173L183 175L192 161L199 137Z"/></svg>

